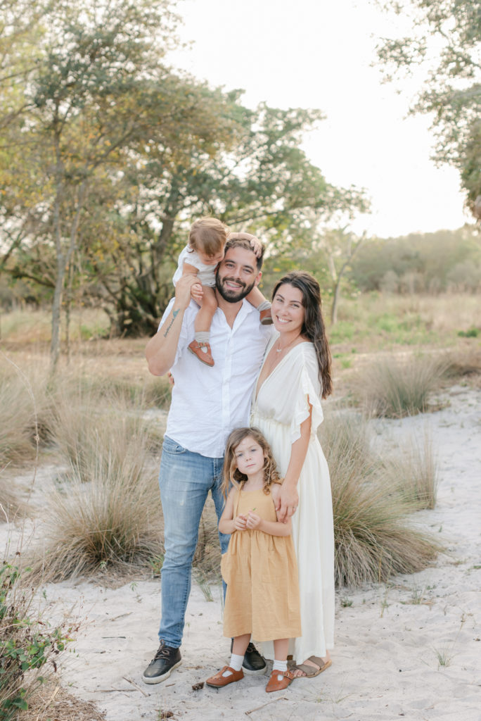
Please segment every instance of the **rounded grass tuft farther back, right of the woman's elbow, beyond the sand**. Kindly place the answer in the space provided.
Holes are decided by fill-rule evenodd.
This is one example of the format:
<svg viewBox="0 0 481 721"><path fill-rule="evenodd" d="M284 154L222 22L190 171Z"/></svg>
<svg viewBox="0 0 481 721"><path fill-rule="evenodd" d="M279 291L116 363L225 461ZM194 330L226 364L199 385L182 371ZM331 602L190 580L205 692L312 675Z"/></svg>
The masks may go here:
<svg viewBox="0 0 481 721"><path fill-rule="evenodd" d="M429 399L445 370L440 358L421 356L405 363L382 361L363 368L358 397L369 415L403 418L431 410Z"/></svg>

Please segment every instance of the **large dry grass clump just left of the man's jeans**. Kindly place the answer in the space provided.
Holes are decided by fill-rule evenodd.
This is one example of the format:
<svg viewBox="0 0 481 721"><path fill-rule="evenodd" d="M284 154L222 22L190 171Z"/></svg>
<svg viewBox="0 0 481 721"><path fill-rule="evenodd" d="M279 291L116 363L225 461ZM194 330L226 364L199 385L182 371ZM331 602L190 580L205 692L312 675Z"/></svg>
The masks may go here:
<svg viewBox="0 0 481 721"><path fill-rule="evenodd" d="M156 472L132 442L97 448L82 469L73 464L45 508L45 546L31 565L43 580L102 570L127 572L162 552Z"/></svg>

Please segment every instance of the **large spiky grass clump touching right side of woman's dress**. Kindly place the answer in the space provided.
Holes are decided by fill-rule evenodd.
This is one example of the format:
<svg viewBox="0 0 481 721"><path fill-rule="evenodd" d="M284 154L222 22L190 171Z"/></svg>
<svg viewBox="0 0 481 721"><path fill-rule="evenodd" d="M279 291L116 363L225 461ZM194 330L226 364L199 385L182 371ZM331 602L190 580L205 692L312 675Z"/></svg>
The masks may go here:
<svg viewBox="0 0 481 721"><path fill-rule="evenodd" d="M336 584L381 582L422 570L439 544L409 522L415 507L385 481L366 420L341 413L321 428L333 492Z"/></svg>

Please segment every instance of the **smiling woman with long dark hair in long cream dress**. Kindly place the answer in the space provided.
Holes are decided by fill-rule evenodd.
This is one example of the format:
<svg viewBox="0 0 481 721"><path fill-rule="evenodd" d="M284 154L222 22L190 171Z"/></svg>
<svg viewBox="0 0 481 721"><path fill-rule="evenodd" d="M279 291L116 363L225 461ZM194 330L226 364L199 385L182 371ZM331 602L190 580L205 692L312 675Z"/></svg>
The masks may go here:
<svg viewBox="0 0 481 721"><path fill-rule="evenodd" d="M269 441L284 478L279 520L292 516L299 567L302 637L289 653L296 676L312 678L331 665L334 628L334 534L331 482L316 431L320 398L332 392L331 352L320 310L320 288L310 273L293 270L272 294L278 333L266 350L253 392L251 425ZM269 644L264 655L272 657Z"/></svg>

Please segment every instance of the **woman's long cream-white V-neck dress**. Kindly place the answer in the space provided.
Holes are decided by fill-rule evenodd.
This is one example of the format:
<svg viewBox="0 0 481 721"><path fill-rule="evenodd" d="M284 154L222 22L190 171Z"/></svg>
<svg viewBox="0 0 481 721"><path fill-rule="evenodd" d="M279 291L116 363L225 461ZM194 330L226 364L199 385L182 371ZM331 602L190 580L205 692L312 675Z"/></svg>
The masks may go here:
<svg viewBox="0 0 481 721"><path fill-rule="evenodd" d="M266 355L277 341L269 343ZM282 477L287 472L292 443L300 438L300 425L313 407L307 455L297 491L299 505L292 516L292 539L299 568L302 636L292 639L289 653L297 663L310 656L325 656L334 643L334 532L331 481L328 464L317 437L323 420L318 361L310 342L295 345L253 391L251 426L269 441ZM270 643L262 645L266 658L274 658Z"/></svg>

